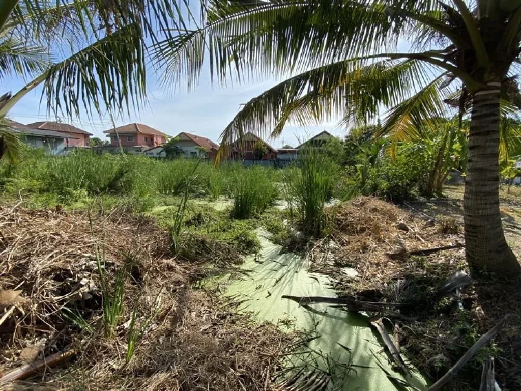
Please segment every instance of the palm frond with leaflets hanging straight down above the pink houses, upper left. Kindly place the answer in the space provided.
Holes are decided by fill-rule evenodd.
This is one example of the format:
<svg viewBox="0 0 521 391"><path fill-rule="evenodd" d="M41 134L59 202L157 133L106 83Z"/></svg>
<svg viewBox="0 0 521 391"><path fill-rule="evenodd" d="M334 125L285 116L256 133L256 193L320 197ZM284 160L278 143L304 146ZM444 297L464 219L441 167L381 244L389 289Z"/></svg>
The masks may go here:
<svg viewBox="0 0 521 391"><path fill-rule="evenodd" d="M146 93L144 43L139 26L129 26L73 54L46 72L43 96L67 117L80 107L139 110Z"/></svg>

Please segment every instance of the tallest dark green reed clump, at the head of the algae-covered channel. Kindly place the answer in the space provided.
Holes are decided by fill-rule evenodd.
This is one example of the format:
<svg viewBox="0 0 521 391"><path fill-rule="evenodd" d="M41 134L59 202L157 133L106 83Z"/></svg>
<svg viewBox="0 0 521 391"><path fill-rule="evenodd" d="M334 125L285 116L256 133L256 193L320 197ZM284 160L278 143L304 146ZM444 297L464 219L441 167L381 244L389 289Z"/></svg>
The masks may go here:
<svg viewBox="0 0 521 391"><path fill-rule="evenodd" d="M331 199L340 168L321 150L301 152L300 169L284 172L284 193L299 215L302 230L322 235L327 224L324 206Z"/></svg>

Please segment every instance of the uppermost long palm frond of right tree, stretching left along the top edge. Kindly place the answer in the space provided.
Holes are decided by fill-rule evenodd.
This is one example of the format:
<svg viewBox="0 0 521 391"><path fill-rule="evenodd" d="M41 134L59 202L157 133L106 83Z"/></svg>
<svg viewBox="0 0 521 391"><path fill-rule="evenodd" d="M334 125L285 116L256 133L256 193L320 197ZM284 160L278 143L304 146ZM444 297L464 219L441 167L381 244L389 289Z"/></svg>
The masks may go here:
<svg viewBox="0 0 521 391"><path fill-rule="evenodd" d="M196 83L203 64L224 82L263 72L302 71L350 57L392 50L402 34L414 36L416 22L403 10L436 2L277 0L255 5L212 2L205 25L153 48L164 78ZM428 16L425 16L428 18Z"/></svg>

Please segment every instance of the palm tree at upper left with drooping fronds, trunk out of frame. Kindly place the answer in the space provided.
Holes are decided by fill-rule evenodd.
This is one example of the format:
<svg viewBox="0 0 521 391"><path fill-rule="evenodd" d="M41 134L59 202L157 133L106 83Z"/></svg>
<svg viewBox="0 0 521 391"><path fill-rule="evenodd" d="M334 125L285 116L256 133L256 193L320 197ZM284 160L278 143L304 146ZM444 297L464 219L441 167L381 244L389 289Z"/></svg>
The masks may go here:
<svg viewBox="0 0 521 391"><path fill-rule="evenodd" d="M20 141L2 119L39 85L49 112L121 115L145 103L146 47L181 28L181 7L156 0L7 0L0 4L0 78L27 85L0 97L0 157Z"/></svg>

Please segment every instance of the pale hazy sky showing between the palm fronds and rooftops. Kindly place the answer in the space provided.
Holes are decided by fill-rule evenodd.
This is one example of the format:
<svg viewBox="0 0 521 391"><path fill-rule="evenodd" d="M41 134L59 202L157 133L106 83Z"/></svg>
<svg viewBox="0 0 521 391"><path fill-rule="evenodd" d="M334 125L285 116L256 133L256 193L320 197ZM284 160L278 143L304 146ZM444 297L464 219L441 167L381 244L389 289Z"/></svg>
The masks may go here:
<svg viewBox="0 0 521 391"><path fill-rule="evenodd" d="M175 136L181 131L195 133L199 136L210 138L216 142L222 130L230 123L231 119L239 111L239 105L246 103L252 97L257 96L272 85L276 80L261 80L258 82L233 85L219 88L218 85L210 83L208 71L203 72L199 88L189 93L168 94L158 87L157 78L154 75L148 80L149 106L140 113L130 118L117 119L117 125L139 122L167 135ZM1 93L11 91L15 93L25 82L22 79L11 79L4 83ZM26 95L9 113L9 117L22 124L35 121L56 120L56 117L47 117L46 102L40 104L42 89L38 88ZM61 118L65 121L65 118ZM89 120L82 117L80 120L69 121L94 134L94 136L105 139L103 131L110 128L109 117L99 117ZM294 127L287 126L282 136L276 140L267 140L275 148L282 147L282 138L285 144L295 146L297 139L306 139L322 130L328 130L337 136L344 136L345 129L334 128L334 123L324 124L317 127Z"/></svg>

